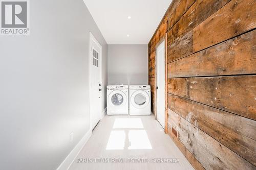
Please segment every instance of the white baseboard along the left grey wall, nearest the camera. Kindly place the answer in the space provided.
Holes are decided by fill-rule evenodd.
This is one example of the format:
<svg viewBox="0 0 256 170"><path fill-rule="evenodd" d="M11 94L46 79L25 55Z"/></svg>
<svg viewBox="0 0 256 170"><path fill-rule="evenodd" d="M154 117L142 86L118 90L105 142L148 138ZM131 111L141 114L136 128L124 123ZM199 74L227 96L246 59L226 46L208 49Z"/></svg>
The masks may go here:
<svg viewBox="0 0 256 170"><path fill-rule="evenodd" d="M57 170L67 170L73 163L73 161L76 159L77 155L82 150L84 144L89 140L89 138L92 135L92 131L89 130L82 139L76 144L75 148L69 153L69 155L66 157L66 159L59 165Z"/></svg>

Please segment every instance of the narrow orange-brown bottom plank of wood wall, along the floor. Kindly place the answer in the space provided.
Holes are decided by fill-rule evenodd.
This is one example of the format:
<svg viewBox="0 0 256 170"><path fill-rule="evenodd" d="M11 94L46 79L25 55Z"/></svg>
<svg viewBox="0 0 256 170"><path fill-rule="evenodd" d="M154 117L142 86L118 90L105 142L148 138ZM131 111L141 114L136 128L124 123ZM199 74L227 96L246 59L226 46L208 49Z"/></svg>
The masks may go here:
<svg viewBox="0 0 256 170"><path fill-rule="evenodd" d="M172 138L172 140L174 141L174 143L177 145L177 147L179 148L179 150L182 152L182 154L186 157L186 159L190 162L190 164L197 170L204 170L205 168L201 165L200 162L198 162L198 160L194 157L193 154L191 154L186 147L184 146L183 143L181 143L181 141L172 133L172 129L170 124L168 123L167 125L167 133L170 136L170 138Z"/></svg>

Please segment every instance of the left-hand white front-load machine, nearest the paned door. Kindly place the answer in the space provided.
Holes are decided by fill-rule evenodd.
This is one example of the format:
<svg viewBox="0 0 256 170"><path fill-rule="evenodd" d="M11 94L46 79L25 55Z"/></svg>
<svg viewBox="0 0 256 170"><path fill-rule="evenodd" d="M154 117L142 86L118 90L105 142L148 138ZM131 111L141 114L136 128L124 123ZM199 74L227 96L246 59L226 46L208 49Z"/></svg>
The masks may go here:
<svg viewBox="0 0 256 170"><path fill-rule="evenodd" d="M127 85L107 86L107 114L108 115L128 115L129 95Z"/></svg>

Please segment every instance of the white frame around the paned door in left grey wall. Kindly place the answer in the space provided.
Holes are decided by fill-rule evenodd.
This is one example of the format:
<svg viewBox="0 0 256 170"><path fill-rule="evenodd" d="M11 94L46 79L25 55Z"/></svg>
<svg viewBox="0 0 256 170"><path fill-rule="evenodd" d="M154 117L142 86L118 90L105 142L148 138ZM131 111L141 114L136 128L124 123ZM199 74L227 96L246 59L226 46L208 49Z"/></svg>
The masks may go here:
<svg viewBox="0 0 256 170"><path fill-rule="evenodd" d="M100 48L100 54L99 54L99 70L100 70L100 80L101 80L101 87L103 88L102 86L102 46L100 45L100 43L97 41L97 39L93 36L93 34L90 32L90 35L89 35L89 111L90 111L90 129L91 131L93 130L93 127L92 127L92 115L91 115L91 68L92 68L92 41L94 43L96 43L99 48ZM103 90L103 89L102 89ZM101 91L102 92L102 91ZM99 104L99 107L102 108L102 93L101 93L101 102ZM102 112L102 109L101 109L101 112ZM100 112L100 113L101 113ZM99 115L100 116L100 115ZM101 117L101 116L100 116Z"/></svg>

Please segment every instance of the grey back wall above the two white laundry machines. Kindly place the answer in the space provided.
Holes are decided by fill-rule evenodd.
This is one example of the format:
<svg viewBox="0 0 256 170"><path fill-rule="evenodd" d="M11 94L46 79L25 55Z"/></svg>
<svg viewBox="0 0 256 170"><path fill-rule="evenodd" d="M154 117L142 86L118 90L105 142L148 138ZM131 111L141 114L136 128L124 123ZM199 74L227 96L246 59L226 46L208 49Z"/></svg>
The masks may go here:
<svg viewBox="0 0 256 170"><path fill-rule="evenodd" d="M108 45L108 84L148 84L147 45Z"/></svg>

